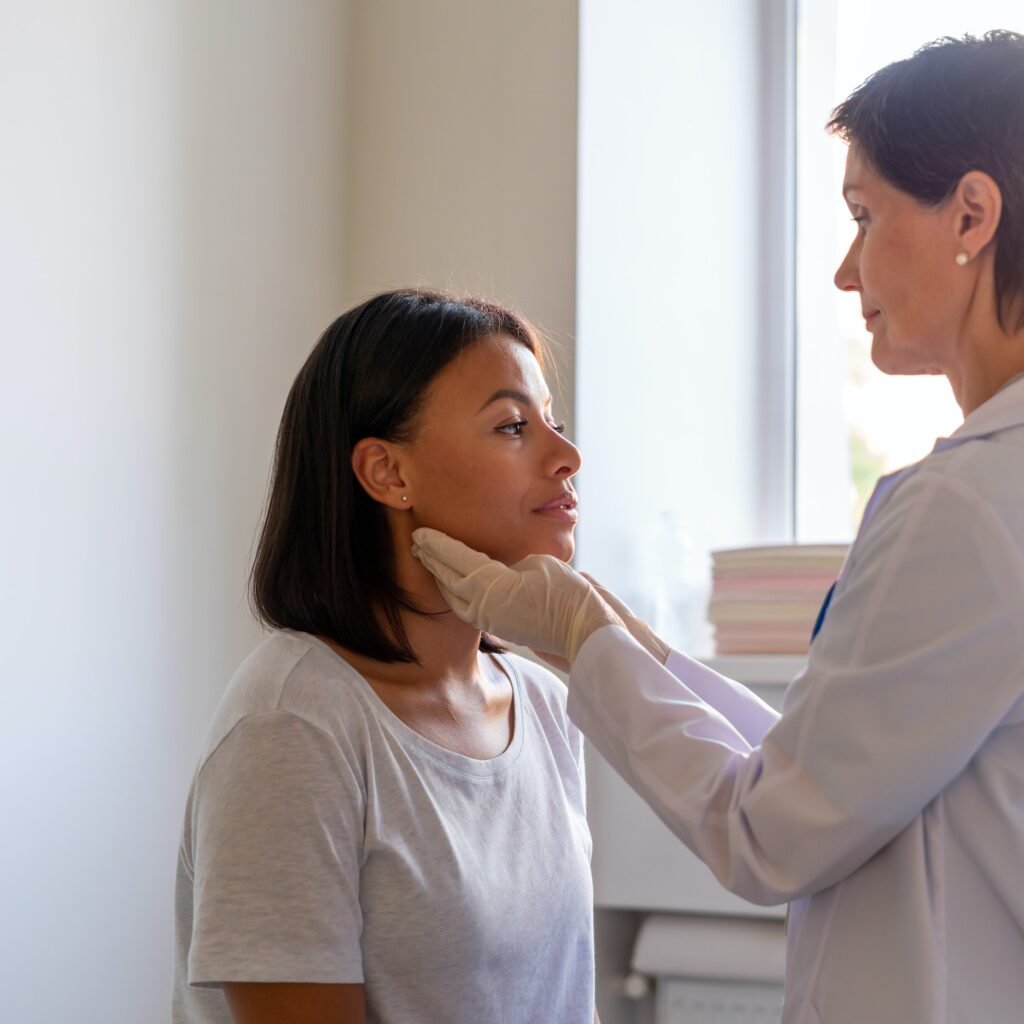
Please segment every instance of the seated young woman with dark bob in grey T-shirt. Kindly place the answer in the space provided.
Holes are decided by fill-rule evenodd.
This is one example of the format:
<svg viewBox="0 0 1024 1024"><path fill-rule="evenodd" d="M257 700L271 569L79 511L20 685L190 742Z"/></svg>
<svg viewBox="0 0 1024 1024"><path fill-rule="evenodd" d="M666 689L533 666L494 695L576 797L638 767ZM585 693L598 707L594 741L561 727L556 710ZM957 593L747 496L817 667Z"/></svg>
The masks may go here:
<svg viewBox="0 0 1024 1024"><path fill-rule="evenodd" d="M252 575L272 632L200 759L178 857L178 1024L591 1024L583 742L564 687L452 614L442 529L567 559L580 454L534 330L423 291L299 373Z"/></svg>

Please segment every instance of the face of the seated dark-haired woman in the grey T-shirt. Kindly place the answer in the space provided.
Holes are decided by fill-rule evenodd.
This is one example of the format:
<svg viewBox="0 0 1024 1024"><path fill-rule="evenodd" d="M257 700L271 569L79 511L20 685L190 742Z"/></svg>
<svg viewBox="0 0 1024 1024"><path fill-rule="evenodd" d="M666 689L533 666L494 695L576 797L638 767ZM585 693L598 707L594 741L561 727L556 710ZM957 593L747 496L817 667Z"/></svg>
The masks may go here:
<svg viewBox="0 0 1024 1024"><path fill-rule="evenodd" d="M507 564L571 558L580 453L525 345L503 335L471 345L433 381L415 426L403 445L410 534L430 526Z"/></svg>

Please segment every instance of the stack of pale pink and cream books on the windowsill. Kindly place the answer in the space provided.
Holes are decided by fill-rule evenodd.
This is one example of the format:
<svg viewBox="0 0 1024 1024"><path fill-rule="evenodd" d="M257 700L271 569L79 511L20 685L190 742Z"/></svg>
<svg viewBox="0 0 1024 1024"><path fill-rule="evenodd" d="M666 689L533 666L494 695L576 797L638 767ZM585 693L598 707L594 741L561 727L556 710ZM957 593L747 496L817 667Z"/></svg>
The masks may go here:
<svg viewBox="0 0 1024 1024"><path fill-rule="evenodd" d="M718 654L806 654L846 544L783 544L712 552L708 621Z"/></svg>

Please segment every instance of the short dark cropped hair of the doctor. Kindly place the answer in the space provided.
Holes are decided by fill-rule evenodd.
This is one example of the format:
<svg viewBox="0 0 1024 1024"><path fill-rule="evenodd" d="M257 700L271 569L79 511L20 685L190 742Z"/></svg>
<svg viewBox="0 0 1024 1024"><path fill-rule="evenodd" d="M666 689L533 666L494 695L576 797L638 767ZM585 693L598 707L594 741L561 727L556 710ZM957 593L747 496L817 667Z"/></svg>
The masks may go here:
<svg viewBox="0 0 1024 1024"><path fill-rule="evenodd" d="M995 239L996 313L1024 327L1024 36L944 38L876 72L831 113L890 184L937 206L969 171L1002 193ZM1016 323L1010 316L1016 311Z"/></svg>

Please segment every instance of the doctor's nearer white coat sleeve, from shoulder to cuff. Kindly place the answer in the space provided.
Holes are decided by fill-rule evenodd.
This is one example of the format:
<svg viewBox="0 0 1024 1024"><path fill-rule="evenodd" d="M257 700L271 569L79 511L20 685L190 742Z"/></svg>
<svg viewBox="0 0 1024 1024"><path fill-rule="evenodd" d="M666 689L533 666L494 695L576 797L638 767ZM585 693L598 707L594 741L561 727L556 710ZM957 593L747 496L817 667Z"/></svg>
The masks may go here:
<svg viewBox="0 0 1024 1024"><path fill-rule="evenodd" d="M998 728L1022 679L1020 543L971 487L922 470L863 527L762 736L614 626L581 649L568 708L722 885L770 904L836 884L905 828Z"/></svg>

